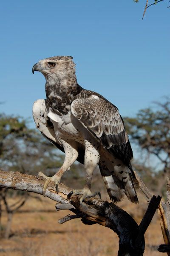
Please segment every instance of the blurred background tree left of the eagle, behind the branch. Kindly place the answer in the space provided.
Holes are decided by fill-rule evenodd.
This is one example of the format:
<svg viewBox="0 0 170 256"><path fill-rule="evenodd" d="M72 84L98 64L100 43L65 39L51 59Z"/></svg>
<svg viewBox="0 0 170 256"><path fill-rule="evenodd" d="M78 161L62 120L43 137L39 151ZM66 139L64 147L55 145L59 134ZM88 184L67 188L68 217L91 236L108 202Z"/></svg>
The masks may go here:
<svg viewBox="0 0 170 256"><path fill-rule="evenodd" d="M6 171L36 175L44 172L48 176L54 175L56 169L61 167L64 154L36 129L30 129L26 119L20 116L7 116L0 113L0 167ZM84 182L81 164L74 164L72 172L68 172L64 180L70 185L73 180ZM76 186L76 185L75 185ZM29 194L29 197L31 195ZM10 204L9 198L13 197L15 203ZM18 199L19 197L19 199ZM28 193L0 189L0 217L3 209L7 214L7 225L2 232L3 224L0 223L1 235L9 238L12 216L28 199Z"/></svg>

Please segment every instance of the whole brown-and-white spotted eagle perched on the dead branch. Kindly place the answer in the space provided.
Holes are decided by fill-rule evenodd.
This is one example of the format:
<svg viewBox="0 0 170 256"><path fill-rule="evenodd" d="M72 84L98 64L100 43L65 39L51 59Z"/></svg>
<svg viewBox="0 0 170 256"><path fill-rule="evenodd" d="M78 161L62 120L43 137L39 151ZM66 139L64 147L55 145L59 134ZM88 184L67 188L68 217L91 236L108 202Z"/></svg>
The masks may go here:
<svg viewBox="0 0 170 256"><path fill-rule="evenodd" d="M34 71L40 71L46 80L46 99L34 102L34 121L42 135L65 152L64 163L53 177L38 174L46 179L43 194L50 181L57 187L64 172L78 160L86 173L84 188L73 192L82 194L80 202L96 195L91 180L99 165L112 201L119 202L127 195L138 203L138 182L130 163L133 153L118 108L99 93L79 86L71 56L40 60Z"/></svg>

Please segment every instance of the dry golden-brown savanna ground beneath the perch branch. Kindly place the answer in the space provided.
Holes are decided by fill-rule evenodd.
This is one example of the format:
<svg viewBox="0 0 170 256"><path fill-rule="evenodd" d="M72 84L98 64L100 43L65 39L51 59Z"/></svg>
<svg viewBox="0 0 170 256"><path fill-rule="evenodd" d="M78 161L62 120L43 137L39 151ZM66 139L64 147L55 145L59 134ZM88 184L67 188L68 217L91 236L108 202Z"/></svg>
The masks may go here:
<svg viewBox="0 0 170 256"><path fill-rule="evenodd" d="M138 192L139 205L128 200L119 206L125 209L140 223L147 201ZM80 219L58 224L58 219L69 211L55 212L55 202L38 197L28 198L26 204L13 216L11 236L0 240L0 256L116 256L118 237L112 230L99 224L84 225ZM17 200L18 198L15 198ZM14 203L14 199L11 203ZM6 225L5 211L2 224ZM145 256L164 255L156 251L163 244L157 213L145 234Z"/></svg>

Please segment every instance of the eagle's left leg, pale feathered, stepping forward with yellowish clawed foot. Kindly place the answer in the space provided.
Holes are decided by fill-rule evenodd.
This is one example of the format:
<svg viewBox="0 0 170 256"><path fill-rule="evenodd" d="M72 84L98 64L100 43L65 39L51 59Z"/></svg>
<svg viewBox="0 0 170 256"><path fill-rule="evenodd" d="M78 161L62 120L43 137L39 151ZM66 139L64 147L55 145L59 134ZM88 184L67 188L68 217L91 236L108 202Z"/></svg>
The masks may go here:
<svg viewBox="0 0 170 256"><path fill-rule="evenodd" d="M54 174L54 176L52 176L52 177L48 177L48 176L44 175L42 172L39 172L37 175L38 179L40 177L45 178L45 183L44 183L43 190L42 190L42 194L44 196L45 196L45 192L46 192L48 183L50 183L51 181L54 182L57 193L59 192L58 184L62 178L62 175L68 169L70 169L70 166L75 162L75 160L78 157L77 147L76 147L76 143L74 141L69 142L69 144L68 144L67 142L62 140L62 145L63 145L64 151L65 151L65 160L64 160L63 165L59 169L59 171L56 174Z"/></svg>

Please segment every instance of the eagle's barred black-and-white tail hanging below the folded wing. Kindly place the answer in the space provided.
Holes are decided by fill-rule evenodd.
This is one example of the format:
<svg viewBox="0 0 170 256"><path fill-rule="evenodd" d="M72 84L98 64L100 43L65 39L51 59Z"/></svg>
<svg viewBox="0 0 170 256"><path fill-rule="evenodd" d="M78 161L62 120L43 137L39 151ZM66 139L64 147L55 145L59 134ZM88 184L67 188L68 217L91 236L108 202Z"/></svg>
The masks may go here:
<svg viewBox="0 0 170 256"><path fill-rule="evenodd" d="M106 165L102 165L101 163L99 163L99 169L111 201L115 203L120 202L124 195L127 195L127 198L131 202L138 204L135 190L137 180L134 173L132 173L133 170L131 171L125 166L122 171L116 172L114 170L111 172Z"/></svg>

